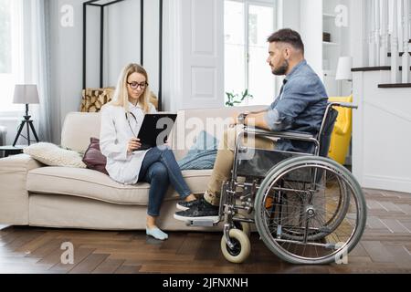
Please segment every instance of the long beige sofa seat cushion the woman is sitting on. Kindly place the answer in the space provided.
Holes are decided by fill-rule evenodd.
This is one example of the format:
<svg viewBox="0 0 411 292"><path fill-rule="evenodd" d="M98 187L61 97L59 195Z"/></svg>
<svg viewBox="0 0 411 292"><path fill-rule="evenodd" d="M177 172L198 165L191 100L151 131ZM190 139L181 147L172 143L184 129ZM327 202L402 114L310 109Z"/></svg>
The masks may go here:
<svg viewBox="0 0 411 292"><path fill-rule="evenodd" d="M211 170L184 171L185 182L193 193L202 193ZM148 204L149 183L124 185L108 175L89 169L68 167L41 167L27 173L27 191L30 193L66 194L119 204ZM178 198L169 188L166 200Z"/></svg>

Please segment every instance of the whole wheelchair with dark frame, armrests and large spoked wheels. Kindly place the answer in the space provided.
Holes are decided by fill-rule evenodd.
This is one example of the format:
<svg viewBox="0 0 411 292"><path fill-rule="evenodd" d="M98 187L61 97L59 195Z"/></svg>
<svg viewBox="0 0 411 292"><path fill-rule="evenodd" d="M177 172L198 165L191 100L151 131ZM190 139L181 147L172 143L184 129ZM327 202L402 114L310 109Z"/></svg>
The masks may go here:
<svg viewBox="0 0 411 292"><path fill-rule="evenodd" d="M330 102L316 136L293 131L244 127L236 138L232 176L221 189L218 221L224 221L221 250L229 262L242 263L251 246L251 224L271 252L292 264L329 264L346 259L366 224L364 193L353 174L327 158L338 111L356 109ZM244 137L307 141L313 154L251 149Z"/></svg>

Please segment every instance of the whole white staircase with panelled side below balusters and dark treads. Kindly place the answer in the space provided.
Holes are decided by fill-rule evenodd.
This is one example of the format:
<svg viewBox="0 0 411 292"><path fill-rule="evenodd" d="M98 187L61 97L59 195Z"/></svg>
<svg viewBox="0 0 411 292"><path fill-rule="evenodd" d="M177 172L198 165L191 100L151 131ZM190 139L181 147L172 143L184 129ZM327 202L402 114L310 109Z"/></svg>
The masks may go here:
<svg viewBox="0 0 411 292"><path fill-rule="evenodd" d="M410 0L364 0L355 19L353 174L363 187L411 196ZM359 9L359 10L360 10ZM362 64L363 66L358 66Z"/></svg>

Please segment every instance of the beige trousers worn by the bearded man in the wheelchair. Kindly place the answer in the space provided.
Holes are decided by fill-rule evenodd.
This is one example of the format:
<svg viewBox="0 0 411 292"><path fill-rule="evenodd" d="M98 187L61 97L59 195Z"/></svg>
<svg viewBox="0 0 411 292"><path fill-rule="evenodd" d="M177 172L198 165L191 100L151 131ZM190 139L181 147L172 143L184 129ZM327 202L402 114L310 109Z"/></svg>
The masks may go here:
<svg viewBox="0 0 411 292"><path fill-rule="evenodd" d="M234 163L234 149L237 133L243 128L242 125L229 128L224 131L224 137L220 140L214 164L213 172L208 181L207 191L204 194L205 201L214 205L220 203L220 191L223 182L230 178ZM275 142L267 138L254 136L244 137L243 144L251 148L273 149Z"/></svg>

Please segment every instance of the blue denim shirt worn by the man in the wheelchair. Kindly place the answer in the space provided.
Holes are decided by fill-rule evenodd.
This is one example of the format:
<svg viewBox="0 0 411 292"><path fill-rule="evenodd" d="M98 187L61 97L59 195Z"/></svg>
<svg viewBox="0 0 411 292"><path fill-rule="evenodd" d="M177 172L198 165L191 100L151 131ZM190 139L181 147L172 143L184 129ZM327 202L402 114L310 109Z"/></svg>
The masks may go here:
<svg viewBox="0 0 411 292"><path fill-rule="evenodd" d="M318 75L302 60L284 79L279 97L269 106L265 120L271 130L291 130L316 135L327 107L327 92ZM312 153L306 141L277 141L280 151Z"/></svg>

